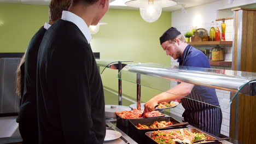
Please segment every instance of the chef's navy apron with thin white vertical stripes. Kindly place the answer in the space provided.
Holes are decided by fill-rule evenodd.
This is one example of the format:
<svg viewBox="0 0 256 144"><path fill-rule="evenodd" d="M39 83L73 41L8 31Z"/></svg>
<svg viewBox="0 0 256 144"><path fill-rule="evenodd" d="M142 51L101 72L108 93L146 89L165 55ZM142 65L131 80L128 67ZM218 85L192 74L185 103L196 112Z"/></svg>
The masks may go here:
<svg viewBox="0 0 256 144"><path fill-rule="evenodd" d="M187 51L185 51L182 65L192 47L191 45L188 46ZM179 65L181 65L181 63ZM194 88L186 98L181 100L182 106L185 109L182 115L184 121L189 122L190 125L206 131L207 133L218 136L222 125L222 110L220 107L199 102L204 100L200 97L200 93L195 93L193 90Z"/></svg>

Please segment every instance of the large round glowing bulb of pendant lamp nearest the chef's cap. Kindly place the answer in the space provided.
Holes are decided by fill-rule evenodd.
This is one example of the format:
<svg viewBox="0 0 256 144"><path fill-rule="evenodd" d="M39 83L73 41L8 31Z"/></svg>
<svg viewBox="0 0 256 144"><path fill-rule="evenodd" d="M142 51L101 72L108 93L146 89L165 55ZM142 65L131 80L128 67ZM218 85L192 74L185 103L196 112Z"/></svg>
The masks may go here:
<svg viewBox="0 0 256 144"><path fill-rule="evenodd" d="M147 4L146 7L139 8L141 17L147 22L154 22L159 19L162 8L155 4Z"/></svg>

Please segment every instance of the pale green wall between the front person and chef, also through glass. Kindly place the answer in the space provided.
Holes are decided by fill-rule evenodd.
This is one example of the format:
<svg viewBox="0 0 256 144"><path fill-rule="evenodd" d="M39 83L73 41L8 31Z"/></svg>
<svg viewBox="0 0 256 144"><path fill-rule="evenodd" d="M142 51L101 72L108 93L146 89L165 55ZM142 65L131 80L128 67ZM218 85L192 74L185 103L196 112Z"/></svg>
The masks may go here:
<svg viewBox="0 0 256 144"><path fill-rule="evenodd" d="M101 20L108 25L100 26L100 31L92 35L91 46L94 52L101 52L101 58L130 60L133 63L161 63L170 65L171 58L166 56L159 43L159 37L171 27L171 13L162 12L159 20L145 22L138 10L110 9ZM105 87L118 91L118 71L104 70L102 81ZM126 80L136 79L124 76ZM134 74L133 74L134 77ZM164 89L170 87L170 81L143 79L142 83L157 83ZM136 100L135 83L123 81L123 93ZM141 100L147 101L160 91L142 87Z"/></svg>

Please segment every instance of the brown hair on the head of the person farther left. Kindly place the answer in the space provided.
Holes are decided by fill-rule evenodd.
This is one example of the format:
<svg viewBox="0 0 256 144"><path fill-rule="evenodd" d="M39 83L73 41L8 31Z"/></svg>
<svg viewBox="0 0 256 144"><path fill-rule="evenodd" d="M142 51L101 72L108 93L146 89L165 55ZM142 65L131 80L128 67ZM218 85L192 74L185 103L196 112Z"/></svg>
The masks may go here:
<svg viewBox="0 0 256 144"><path fill-rule="evenodd" d="M61 18L62 11L68 10L71 0L51 0L49 5L49 22L55 22Z"/></svg>

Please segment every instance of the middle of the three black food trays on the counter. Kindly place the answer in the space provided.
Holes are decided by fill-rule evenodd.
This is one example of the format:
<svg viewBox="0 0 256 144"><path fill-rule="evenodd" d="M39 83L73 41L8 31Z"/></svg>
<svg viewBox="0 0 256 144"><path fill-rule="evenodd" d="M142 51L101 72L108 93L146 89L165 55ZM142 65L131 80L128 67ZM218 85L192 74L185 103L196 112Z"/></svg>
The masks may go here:
<svg viewBox="0 0 256 144"><path fill-rule="evenodd" d="M144 118L144 119L129 119L130 123L130 131L129 136L132 137L133 140L135 140L138 143L149 143L148 137L145 135L148 131L153 130L166 130L166 129L177 129L177 128L185 128L185 125L183 126L177 126L177 127L167 127L167 128L155 128L155 129L137 129L136 125L138 123L144 124L144 125L152 125L155 121L166 121L166 122L173 122L173 124L180 123L176 119L172 117L157 117L157 118Z"/></svg>

